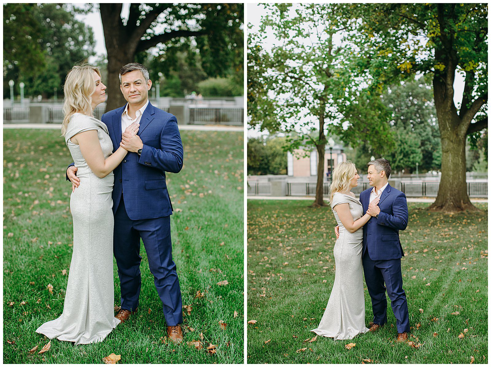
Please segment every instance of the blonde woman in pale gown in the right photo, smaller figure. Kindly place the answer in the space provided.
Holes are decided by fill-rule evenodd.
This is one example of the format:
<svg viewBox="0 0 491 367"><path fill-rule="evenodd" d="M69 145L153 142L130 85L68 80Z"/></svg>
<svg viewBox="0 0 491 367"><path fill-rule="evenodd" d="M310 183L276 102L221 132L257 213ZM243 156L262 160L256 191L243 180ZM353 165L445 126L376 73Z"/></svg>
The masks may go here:
<svg viewBox="0 0 491 367"><path fill-rule="evenodd" d="M362 215L361 203L351 192L358 185L355 164L339 163L332 171L330 205L339 225L339 238L334 245L336 273L326 311L317 329L311 330L327 338L353 339L366 333L365 297L361 251L363 226L371 218Z"/></svg>

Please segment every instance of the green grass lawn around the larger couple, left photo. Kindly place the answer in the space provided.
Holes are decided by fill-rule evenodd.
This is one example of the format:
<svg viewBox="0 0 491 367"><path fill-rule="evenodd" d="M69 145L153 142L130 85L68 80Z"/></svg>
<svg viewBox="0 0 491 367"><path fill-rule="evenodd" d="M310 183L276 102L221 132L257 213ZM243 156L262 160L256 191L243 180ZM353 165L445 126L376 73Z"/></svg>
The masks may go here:
<svg viewBox="0 0 491 367"><path fill-rule="evenodd" d="M184 343L167 341L153 276L141 246L139 313L105 341L74 346L51 342L44 354L29 354L48 339L35 333L55 319L63 300L72 257L72 161L55 130L3 131L3 362L243 363L244 361L244 138L241 132L183 131L184 168L167 174L174 207L173 259L185 312ZM221 281L228 285L218 286ZM53 286L53 294L47 288ZM115 303L119 279L114 262ZM198 297L196 294L198 293ZM199 296L202 294L203 296ZM188 310L191 310L188 315ZM234 317L234 312L237 315ZM219 321L227 325L222 330ZM203 342L197 350L188 341ZM209 343L217 345L209 353ZM213 351L213 349L212 349Z"/></svg>

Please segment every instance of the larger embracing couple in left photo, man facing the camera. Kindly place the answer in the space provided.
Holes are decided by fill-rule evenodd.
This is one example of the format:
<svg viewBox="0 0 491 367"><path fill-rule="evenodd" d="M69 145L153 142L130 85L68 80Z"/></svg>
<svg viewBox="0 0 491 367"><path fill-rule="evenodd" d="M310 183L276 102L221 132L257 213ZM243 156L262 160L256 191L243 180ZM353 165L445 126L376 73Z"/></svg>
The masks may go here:
<svg viewBox="0 0 491 367"><path fill-rule="evenodd" d="M48 338L88 344L103 341L138 311L141 288L140 238L162 300L167 336L183 340L182 299L172 261L172 205L165 172L183 167L183 146L175 116L148 101L148 70L130 63L119 73L125 106L105 113L99 69L74 66L67 75L61 133L74 159L72 182L73 254L63 313L36 332ZM114 315L114 255L121 307Z"/></svg>

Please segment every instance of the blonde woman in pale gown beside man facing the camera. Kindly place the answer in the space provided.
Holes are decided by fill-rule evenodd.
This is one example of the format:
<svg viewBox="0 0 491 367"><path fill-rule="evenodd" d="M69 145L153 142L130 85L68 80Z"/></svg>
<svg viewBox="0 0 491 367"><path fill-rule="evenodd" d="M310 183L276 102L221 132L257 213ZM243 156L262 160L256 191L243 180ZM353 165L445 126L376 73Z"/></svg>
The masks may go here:
<svg viewBox="0 0 491 367"><path fill-rule="evenodd" d="M105 90L99 69L91 65L74 66L66 77L61 133L81 181L70 197L73 255L63 313L36 332L75 344L103 341L119 323L113 314L112 170L128 151L119 147L112 153L107 126L93 117L106 100ZM125 132L137 131L132 124Z"/></svg>

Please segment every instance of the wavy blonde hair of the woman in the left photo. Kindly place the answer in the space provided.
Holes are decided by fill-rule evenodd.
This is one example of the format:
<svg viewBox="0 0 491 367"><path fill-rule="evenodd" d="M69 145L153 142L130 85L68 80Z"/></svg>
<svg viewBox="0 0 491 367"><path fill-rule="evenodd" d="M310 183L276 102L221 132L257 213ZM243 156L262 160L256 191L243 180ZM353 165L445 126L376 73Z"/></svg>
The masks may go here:
<svg viewBox="0 0 491 367"><path fill-rule="evenodd" d="M61 135L65 136L70 117L80 112L85 115L92 114L92 94L95 92L93 72L99 77L101 72L90 64L75 65L66 76L63 87L65 98L63 100L63 123Z"/></svg>

